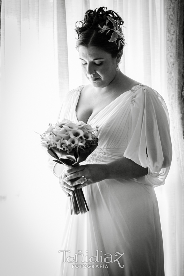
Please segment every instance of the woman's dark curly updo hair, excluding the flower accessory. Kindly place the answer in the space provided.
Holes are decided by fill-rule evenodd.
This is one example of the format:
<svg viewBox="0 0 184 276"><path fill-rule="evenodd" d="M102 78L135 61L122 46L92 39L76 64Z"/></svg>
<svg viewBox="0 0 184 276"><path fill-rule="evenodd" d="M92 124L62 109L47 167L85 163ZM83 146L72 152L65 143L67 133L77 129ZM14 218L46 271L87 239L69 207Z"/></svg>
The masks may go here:
<svg viewBox="0 0 184 276"><path fill-rule="evenodd" d="M113 31L113 24L111 21L108 21L108 24L106 21L108 20L108 17L112 17L116 24L119 21L119 25L123 25L124 21L122 18L115 13L113 10L107 10L106 7L100 7L99 9L96 8L93 10L87 10L84 16L84 20L77 21L75 26L75 31L78 34L77 42L76 42L76 48L80 45L82 46L95 46L98 48L102 48L105 52L108 52L111 54L113 58L117 56L119 51L123 49L123 45L121 44L118 49L118 38L117 42L109 42ZM78 25L78 26L77 26ZM102 28L104 25L108 25L109 28L112 29L112 31L107 31L103 33L99 33L100 28Z"/></svg>

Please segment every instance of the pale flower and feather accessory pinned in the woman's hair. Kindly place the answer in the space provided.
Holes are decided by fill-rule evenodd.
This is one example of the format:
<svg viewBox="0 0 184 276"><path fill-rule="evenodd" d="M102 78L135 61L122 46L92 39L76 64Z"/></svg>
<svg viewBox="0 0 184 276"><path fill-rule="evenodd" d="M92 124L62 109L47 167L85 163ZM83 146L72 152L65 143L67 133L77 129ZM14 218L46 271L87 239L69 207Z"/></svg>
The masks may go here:
<svg viewBox="0 0 184 276"><path fill-rule="evenodd" d="M114 18L110 17L110 16L107 16L107 21L106 21L106 25L104 25L103 27L100 26L100 24L98 24L98 27L100 28L100 31L99 33L103 33L105 31L107 31L106 34L108 34L110 31L114 31L112 33L112 36L111 38L108 40L109 42L116 42L117 39L118 40L118 50L120 48L121 45L125 45L125 38L124 38L124 34L122 32L122 29L121 29L121 25L120 25L120 21L115 21ZM111 21L112 24L113 24L113 29L109 28L108 27L108 22ZM123 26L124 27L124 26Z"/></svg>

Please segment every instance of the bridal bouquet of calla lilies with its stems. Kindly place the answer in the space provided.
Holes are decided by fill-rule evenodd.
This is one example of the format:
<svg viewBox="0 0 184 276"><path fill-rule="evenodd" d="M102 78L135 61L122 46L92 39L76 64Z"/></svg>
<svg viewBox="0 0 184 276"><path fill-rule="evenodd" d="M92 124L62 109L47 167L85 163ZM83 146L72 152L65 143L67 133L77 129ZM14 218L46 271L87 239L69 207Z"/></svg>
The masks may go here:
<svg viewBox="0 0 184 276"><path fill-rule="evenodd" d="M95 130L98 131L98 127L92 128L82 121L73 123L64 119L58 124L49 124L49 128L40 134L41 145L53 161L65 167L75 167L96 149L98 138L94 134ZM69 195L71 214L84 214L89 209L82 189L76 188L74 194Z"/></svg>

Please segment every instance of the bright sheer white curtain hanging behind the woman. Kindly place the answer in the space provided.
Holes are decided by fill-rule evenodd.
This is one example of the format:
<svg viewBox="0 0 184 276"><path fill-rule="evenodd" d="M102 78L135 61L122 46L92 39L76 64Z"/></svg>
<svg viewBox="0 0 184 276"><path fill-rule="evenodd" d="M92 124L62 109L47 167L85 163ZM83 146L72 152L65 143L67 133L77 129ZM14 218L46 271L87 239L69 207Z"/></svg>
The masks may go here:
<svg viewBox="0 0 184 276"><path fill-rule="evenodd" d="M124 20L120 68L167 102L164 0L2 1L1 23L1 268L3 276L55 275L60 263L62 206L58 179L36 132L55 122L62 98L86 84L75 49L75 22L107 6ZM67 39L66 39L67 38ZM175 157L158 196L166 276L182 276L181 180ZM12 250L14 249L14 250ZM11 264L11 265L10 265ZM36 272L35 272L36 271Z"/></svg>

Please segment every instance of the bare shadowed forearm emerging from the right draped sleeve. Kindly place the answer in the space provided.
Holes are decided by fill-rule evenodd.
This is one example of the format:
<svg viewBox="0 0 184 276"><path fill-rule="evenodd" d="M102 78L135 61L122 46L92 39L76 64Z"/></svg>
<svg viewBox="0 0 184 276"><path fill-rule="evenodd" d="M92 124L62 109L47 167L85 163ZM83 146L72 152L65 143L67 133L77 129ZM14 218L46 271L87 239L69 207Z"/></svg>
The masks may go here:
<svg viewBox="0 0 184 276"><path fill-rule="evenodd" d="M147 168L141 167L126 157L101 165L104 166L102 169L105 179L138 178L148 173Z"/></svg>

